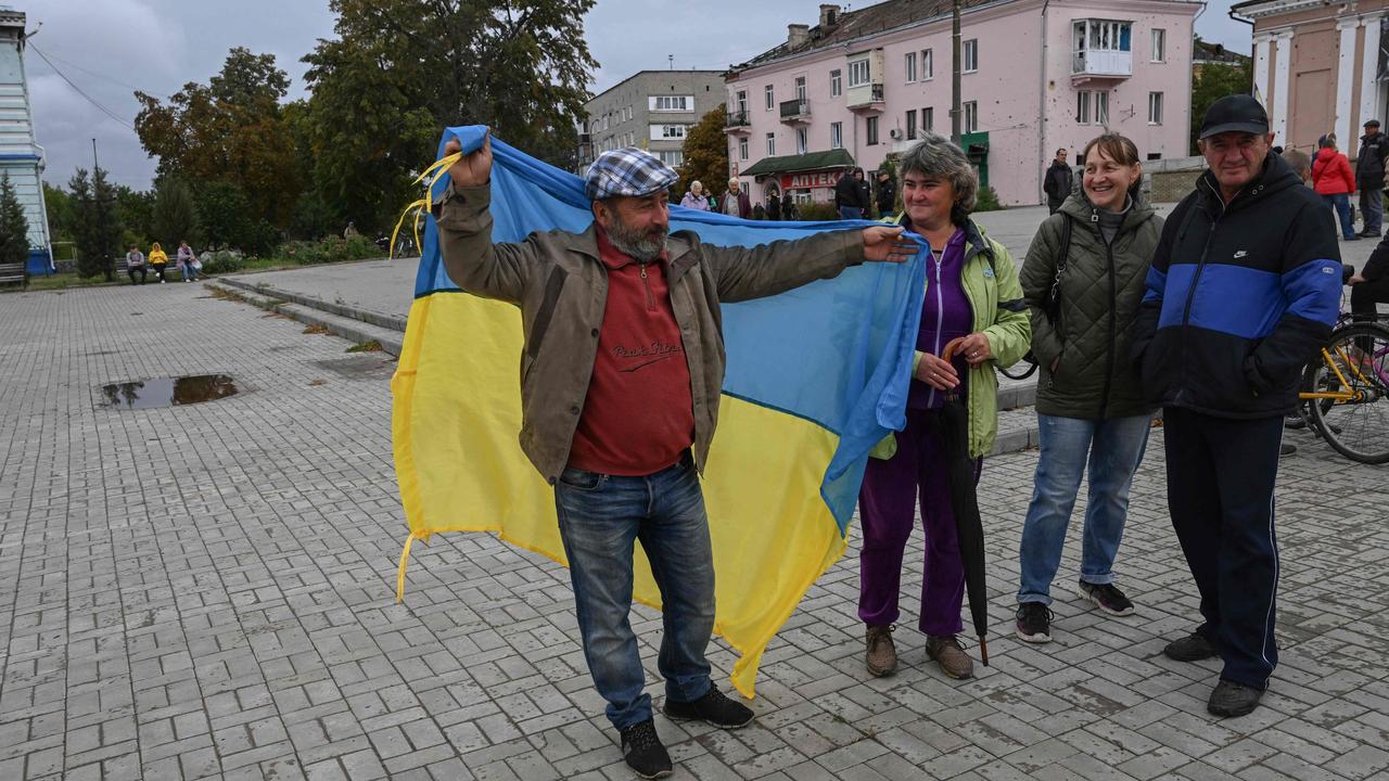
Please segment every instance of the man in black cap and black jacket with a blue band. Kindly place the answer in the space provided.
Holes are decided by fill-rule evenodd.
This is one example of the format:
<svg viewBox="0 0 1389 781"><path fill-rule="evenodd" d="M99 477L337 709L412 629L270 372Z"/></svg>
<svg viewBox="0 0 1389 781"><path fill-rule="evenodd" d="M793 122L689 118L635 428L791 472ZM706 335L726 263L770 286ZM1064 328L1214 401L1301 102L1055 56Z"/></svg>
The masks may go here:
<svg viewBox="0 0 1389 781"><path fill-rule="evenodd" d="M1340 309L1331 211L1270 154L1251 96L1217 100L1210 165L1163 229L1135 328L1146 393L1163 404L1167 503L1204 623L1167 656L1225 666L1207 709L1251 712L1278 661L1274 482L1283 416Z"/></svg>

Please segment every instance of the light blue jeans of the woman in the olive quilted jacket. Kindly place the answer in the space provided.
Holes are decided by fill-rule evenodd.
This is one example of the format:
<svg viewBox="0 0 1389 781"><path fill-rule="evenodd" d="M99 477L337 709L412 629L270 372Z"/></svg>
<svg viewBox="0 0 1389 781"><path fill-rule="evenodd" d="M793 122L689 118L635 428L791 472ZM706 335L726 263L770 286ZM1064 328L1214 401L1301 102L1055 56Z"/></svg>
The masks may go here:
<svg viewBox="0 0 1389 781"><path fill-rule="evenodd" d="M1042 457L1022 524L1018 602L1051 603L1051 579L1061 566L1065 528L1086 461L1090 496L1085 509L1081 579L1096 585L1114 582L1111 567L1124 538L1128 492L1147 447L1150 421L1151 416L1106 421L1038 416Z"/></svg>

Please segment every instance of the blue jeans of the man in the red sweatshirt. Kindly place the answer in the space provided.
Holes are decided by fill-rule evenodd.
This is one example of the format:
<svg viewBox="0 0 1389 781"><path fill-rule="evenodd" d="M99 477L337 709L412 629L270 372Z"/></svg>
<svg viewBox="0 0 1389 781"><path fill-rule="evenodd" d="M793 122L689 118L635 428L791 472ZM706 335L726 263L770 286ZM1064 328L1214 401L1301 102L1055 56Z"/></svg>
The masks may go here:
<svg viewBox="0 0 1389 781"><path fill-rule="evenodd" d="M567 468L554 485L560 536L569 559L583 657L607 717L618 730L651 717L646 674L628 613L632 548L651 563L661 591L665 696L692 702L710 689L704 649L714 631L714 554L699 474L681 463L646 477Z"/></svg>

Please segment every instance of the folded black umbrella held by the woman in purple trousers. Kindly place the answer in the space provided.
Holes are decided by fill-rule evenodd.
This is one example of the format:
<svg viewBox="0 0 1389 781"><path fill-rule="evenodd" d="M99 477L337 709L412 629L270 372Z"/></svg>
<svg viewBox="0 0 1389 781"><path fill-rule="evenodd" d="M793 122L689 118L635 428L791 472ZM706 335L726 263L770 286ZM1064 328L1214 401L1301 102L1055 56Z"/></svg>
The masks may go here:
<svg viewBox="0 0 1389 781"><path fill-rule="evenodd" d="M949 361L960 339L953 339L942 350ZM940 407L940 445L946 454L946 474L950 481L950 510L956 518L960 539L960 561L964 564L964 588L970 595L970 616L974 634L979 638L979 659L989 666L989 595L983 582L983 520L979 517L979 495L975 491L975 463L970 457L970 410L960 393L946 393Z"/></svg>

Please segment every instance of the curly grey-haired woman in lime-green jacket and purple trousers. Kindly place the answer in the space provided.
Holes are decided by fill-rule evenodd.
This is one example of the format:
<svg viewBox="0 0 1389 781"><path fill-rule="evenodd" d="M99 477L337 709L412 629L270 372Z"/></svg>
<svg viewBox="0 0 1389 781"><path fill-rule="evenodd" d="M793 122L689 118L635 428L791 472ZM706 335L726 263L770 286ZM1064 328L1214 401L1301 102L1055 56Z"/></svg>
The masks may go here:
<svg viewBox="0 0 1389 781"><path fill-rule="evenodd" d="M926 656L950 678L974 675L960 645L964 564L950 502L942 409L957 390L968 416L968 457L979 479L983 454L999 428L999 379L1028 352L1031 328L1018 272L1008 250L985 238L970 220L978 174L964 151L936 133L903 153L899 163L903 214L899 222L931 245L926 295L917 335L915 368L907 389L907 425L872 452L858 492L863 549L858 554L858 618L865 624L871 675L897 671L892 631L899 617L901 559L920 502L925 527L925 577L918 628ZM951 360L942 352L963 342Z"/></svg>

